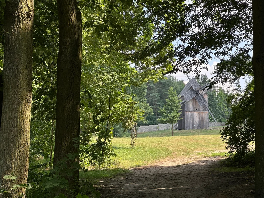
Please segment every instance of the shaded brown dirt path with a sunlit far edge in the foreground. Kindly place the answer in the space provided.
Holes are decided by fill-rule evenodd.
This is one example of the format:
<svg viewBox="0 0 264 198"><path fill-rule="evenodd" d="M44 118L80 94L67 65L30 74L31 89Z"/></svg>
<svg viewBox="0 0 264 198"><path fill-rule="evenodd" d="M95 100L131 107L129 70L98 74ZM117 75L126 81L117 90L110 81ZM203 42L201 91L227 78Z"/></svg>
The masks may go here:
<svg viewBox="0 0 264 198"><path fill-rule="evenodd" d="M254 197L252 172L219 173L220 157L169 159L131 169L122 178L100 181L102 198L244 198Z"/></svg>

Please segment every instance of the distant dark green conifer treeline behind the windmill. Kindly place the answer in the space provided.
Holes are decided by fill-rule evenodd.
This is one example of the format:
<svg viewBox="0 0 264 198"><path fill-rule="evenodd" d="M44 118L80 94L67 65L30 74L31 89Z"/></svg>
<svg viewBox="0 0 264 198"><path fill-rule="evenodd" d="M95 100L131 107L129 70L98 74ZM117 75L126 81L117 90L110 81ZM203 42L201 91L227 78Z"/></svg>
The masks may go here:
<svg viewBox="0 0 264 198"><path fill-rule="evenodd" d="M208 83L209 79L206 75L201 75L198 79L199 84L204 85ZM159 79L158 82L148 81L145 90L145 99L148 105L152 108L153 113L145 115L145 122L139 121L138 125L154 125L158 124L158 119L161 118L159 110L166 104L168 98L168 90L173 87L177 95L180 94L184 88L185 83L183 80L178 80L172 75L168 75L165 79ZM139 94L138 89L133 90L133 93ZM229 118L230 108L227 105L227 97L229 92L221 87L212 87L208 91L208 103L213 110L219 122L225 122ZM144 110L144 109L143 109Z"/></svg>

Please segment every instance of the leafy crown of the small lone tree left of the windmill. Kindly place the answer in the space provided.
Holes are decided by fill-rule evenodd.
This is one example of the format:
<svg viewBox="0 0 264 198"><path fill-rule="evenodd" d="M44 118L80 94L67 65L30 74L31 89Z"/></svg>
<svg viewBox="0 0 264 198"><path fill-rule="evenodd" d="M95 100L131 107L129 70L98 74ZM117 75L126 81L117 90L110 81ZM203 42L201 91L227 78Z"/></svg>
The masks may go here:
<svg viewBox="0 0 264 198"><path fill-rule="evenodd" d="M173 91L173 87L168 90L168 99L166 104L161 108L160 113L162 118L158 119L162 123L176 123L179 120L181 114L181 100L178 98L176 91Z"/></svg>

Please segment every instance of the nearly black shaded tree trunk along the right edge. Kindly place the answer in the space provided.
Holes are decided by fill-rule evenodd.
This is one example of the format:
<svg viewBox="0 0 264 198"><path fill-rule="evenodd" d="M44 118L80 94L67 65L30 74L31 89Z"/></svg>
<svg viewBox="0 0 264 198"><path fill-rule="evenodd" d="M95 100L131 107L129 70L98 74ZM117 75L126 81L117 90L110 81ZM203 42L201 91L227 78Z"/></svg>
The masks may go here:
<svg viewBox="0 0 264 198"><path fill-rule="evenodd" d="M255 197L264 197L264 1L253 0L253 71L255 78Z"/></svg>

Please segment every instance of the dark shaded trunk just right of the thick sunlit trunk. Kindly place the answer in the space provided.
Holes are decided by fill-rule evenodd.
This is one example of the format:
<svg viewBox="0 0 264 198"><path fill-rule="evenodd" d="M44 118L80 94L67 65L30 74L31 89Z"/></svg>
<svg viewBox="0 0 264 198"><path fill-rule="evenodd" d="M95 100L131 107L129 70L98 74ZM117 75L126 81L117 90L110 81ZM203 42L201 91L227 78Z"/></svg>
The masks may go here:
<svg viewBox="0 0 264 198"><path fill-rule="evenodd" d="M59 54L57 60L57 101L54 167L66 166L59 173L78 191L80 87L82 59L82 18L76 0L57 0L59 16ZM71 154L72 159L69 159ZM67 156L68 155L68 156ZM65 161L66 160L66 161ZM62 192L72 195L69 192ZM74 192L73 192L74 193Z"/></svg>

